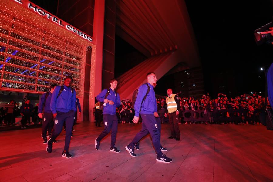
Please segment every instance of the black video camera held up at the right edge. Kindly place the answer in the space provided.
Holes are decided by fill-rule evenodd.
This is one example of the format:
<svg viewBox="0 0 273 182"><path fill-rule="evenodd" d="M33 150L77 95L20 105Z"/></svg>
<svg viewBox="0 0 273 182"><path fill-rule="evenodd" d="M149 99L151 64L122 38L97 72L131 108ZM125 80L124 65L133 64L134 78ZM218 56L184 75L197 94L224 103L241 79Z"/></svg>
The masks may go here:
<svg viewBox="0 0 273 182"><path fill-rule="evenodd" d="M262 45L265 42L267 44L270 44L271 42L273 42L273 36L271 35L271 33L261 34L261 32L269 31L270 27L273 27L272 22L270 22L270 23L268 23L268 24L266 24L254 31L255 42L257 45Z"/></svg>

